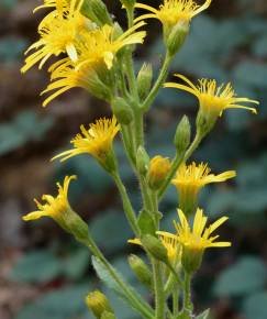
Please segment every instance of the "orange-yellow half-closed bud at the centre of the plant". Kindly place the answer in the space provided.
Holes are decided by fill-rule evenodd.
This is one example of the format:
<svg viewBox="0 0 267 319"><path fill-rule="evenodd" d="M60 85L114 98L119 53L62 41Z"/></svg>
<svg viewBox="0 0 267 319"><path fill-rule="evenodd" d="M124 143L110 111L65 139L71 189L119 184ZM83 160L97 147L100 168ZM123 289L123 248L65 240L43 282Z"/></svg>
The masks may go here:
<svg viewBox="0 0 267 319"><path fill-rule="evenodd" d="M152 158L149 163L148 169L148 185L152 189L160 188L163 182L170 170L170 162L169 158L164 158L162 156L155 156Z"/></svg>

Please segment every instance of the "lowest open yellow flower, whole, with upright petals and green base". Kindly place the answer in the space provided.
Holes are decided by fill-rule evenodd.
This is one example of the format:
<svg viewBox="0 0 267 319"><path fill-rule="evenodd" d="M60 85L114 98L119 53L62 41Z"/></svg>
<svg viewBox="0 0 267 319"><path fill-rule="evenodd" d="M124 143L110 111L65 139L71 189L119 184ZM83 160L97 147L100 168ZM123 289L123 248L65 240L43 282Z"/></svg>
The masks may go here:
<svg viewBox="0 0 267 319"><path fill-rule="evenodd" d="M227 217L220 218L207 228L208 218L203 216L203 211L198 208L193 226L190 228L182 210L178 209L178 216L180 222L178 223L175 221L175 227L177 230L177 240L182 245L181 262L187 272L192 273L200 267L205 249L231 246L231 242L215 242L219 235L212 235L212 233L227 220Z"/></svg>

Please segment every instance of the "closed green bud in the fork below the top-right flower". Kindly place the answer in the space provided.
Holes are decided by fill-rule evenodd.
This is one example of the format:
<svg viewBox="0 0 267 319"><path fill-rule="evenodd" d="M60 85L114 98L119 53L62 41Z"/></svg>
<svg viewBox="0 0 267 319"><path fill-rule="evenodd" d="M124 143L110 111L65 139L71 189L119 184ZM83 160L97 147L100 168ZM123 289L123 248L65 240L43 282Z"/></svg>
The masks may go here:
<svg viewBox="0 0 267 319"><path fill-rule="evenodd" d="M152 87L153 69L152 65L144 63L137 75L137 89L141 100L144 100Z"/></svg>

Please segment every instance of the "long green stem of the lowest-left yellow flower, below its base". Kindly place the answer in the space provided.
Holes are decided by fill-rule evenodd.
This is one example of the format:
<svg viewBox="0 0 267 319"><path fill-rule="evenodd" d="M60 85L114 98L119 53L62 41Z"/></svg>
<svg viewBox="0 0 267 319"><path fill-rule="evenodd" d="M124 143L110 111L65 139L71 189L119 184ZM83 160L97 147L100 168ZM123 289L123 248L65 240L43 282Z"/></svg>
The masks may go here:
<svg viewBox="0 0 267 319"><path fill-rule="evenodd" d="M120 277L118 277L112 265L107 261L107 258L104 257L104 255L99 250L96 242L93 241L93 239L90 235L88 235L87 245L90 249L90 251L93 253L93 255L96 255L102 262L102 264L104 265L104 267L109 272L110 276L122 288L122 290L124 292L124 294L129 298L129 300L131 300L135 305L135 308L140 311L140 314L142 316L144 316L144 318L154 319L152 308L146 302L144 302L142 299L140 299L138 296L135 294L135 292L130 289L127 287L127 285Z"/></svg>

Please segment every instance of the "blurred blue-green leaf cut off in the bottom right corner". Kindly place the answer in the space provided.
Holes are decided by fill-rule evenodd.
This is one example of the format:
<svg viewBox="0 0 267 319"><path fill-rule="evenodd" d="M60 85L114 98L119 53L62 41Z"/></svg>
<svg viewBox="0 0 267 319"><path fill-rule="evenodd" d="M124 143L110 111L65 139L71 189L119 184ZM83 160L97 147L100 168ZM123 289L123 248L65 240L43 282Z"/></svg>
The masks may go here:
<svg viewBox="0 0 267 319"><path fill-rule="evenodd" d="M243 312L247 319L266 319L267 318L267 293L262 292L248 296L244 300Z"/></svg>

